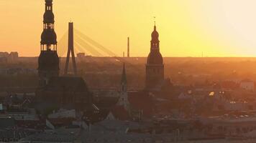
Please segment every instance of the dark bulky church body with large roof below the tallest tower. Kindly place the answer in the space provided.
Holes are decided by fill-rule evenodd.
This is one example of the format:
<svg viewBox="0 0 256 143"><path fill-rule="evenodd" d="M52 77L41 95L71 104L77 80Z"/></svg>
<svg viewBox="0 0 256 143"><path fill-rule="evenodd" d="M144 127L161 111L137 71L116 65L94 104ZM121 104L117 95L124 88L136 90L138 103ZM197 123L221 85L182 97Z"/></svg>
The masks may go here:
<svg viewBox="0 0 256 143"><path fill-rule="evenodd" d="M91 105L91 92L81 77L52 77L40 92L42 98L61 107L83 109Z"/></svg>

